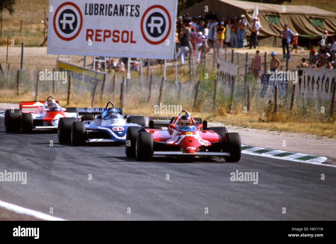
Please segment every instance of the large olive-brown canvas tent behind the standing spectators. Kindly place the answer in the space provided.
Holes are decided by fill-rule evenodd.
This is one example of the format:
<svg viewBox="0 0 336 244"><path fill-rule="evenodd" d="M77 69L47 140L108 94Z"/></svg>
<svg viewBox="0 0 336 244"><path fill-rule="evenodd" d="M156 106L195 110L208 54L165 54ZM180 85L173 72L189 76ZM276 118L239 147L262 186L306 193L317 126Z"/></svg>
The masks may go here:
<svg viewBox="0 0 336 244"><path fill-rule="evenodd" d="M329 34L336 31L336 13L329 12L311 6L285 5L283 12L281 4L256 3L238 0L205 0L190 8L182 10L179 14L189 13L189 16L205 14L205 6L208 6L207 13L215 13L218 19L222 17L234 18L245 14L246 21L252 22L252 15L255 5L258 5L259 19L262 30L259 37L279 36L287 23L293 33L299 33L301 37L316 39L321 37L324 30ZM247 28L247 35L250 31Z"/></svg>

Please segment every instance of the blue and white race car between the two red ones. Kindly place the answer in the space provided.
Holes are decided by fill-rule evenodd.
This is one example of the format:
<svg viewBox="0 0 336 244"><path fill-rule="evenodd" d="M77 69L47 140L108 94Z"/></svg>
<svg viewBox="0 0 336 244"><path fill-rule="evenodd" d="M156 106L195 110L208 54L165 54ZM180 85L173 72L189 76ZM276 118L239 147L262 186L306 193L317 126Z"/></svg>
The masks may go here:
<svg viewBox="0 0 336 244"><path fill-rule="evenodd" d="M112 107L108 108L109 105ZM72 118L61 118L58 123L59 143L71 143L73 146L84 145L85 142L117 142L125 143L129 126L145 126L143 116L122 116L122 109L115 108L109 101L105 108L79 109L92 120L74 121ZM82 111L83 110L83 111ZM94 119L94 116L97 117ZM84 115L85 116L85 115ZM126 122L125 122L126 119Z"/></svg>

